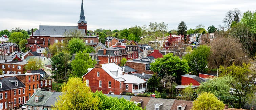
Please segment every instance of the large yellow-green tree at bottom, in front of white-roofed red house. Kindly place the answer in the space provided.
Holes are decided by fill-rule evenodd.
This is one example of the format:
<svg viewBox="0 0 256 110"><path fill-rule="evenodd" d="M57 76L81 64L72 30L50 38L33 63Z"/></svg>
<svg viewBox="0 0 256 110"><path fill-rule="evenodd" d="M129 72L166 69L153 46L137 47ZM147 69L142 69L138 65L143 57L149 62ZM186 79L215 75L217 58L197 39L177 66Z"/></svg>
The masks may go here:
<svg viewBox="0 0 256 110"><path fill-rule="evenodd" d="M69 78L61 87L62 94L55 102L54 110L98 110L100 98L94 96L81 78Z"/></svg>

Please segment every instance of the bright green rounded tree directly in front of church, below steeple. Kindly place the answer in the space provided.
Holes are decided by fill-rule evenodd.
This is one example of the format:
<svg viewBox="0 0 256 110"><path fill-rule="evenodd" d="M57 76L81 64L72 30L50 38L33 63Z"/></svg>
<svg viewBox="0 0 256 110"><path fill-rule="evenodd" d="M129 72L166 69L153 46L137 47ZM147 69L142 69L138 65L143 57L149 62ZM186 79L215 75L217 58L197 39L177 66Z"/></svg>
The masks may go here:
<svg viewBox="0 0 256 110"><path fill-rule="evenodd" d="M85 47L85 43L82 39L79 38L72 38L67 45L69 53L77 53L79 51L83 51Z"/></svg>

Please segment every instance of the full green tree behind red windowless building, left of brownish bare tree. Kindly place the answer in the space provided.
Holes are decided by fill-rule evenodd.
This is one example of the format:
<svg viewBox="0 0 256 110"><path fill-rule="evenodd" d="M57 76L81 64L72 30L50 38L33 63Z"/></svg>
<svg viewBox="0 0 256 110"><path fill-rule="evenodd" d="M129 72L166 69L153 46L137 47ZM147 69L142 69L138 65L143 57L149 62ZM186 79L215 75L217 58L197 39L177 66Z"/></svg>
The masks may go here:
<svg viewBox="0 0 256 110"><path fill-rule="evenodd" d="M188 61L190 71L194 75L199 73L206 73L208 57L211 54L210 47L207 45L200 45L195 48L191 53L187 53L183 58Z"/></svg>

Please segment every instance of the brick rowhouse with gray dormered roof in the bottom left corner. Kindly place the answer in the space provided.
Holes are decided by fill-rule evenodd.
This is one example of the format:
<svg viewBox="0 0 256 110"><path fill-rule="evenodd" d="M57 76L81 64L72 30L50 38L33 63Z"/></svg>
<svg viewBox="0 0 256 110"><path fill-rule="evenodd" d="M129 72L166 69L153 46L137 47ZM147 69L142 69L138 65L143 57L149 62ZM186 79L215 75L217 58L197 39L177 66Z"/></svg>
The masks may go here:
<svg viewBox="0 0 256 110"><path fill-rule="evenodd" d="M25 85L16 77L0 78L0 110L10 110L25 103Z"/></svg>

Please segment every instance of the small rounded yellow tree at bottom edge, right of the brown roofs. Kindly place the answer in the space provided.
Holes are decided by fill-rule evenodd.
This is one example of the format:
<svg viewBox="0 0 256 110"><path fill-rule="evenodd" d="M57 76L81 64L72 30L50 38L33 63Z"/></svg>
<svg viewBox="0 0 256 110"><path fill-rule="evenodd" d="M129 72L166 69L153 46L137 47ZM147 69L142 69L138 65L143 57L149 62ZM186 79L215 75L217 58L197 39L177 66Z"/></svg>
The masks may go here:
<svg viewBox="0 0 256 110"><path fill-rule="evenodd" d="M201 93L193 102L192 110L223 110L224 104L212 93Z"/></svg>

